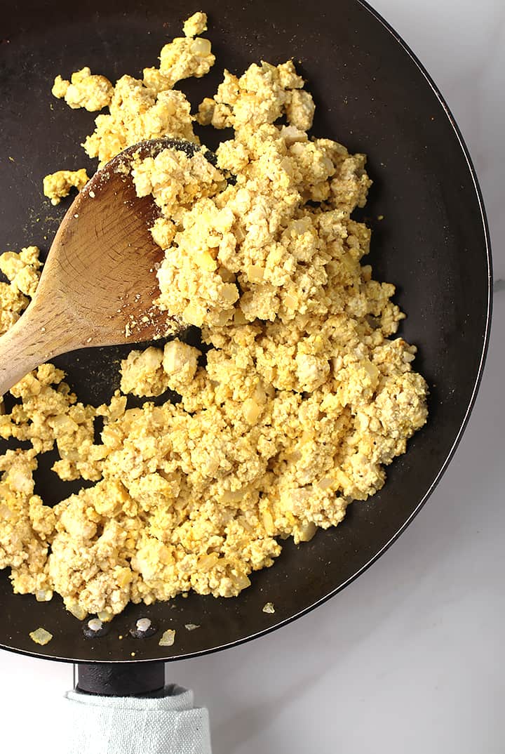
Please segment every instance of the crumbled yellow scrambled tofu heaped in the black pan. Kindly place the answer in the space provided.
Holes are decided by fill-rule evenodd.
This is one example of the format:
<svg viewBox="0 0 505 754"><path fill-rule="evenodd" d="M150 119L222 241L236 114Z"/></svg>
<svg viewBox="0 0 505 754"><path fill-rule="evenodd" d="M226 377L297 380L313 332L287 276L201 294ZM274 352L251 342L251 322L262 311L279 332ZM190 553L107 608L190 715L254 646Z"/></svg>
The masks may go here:
<svg viewBox="0 0 505 754"><path fill-rule="evenodd" d="M416 348L391 337L404 317L394 287L363 263L370 231L351 217L371 185L365 156L308 135L314 101L294 64L262 62L225 72L200 104L200 124L234 129L211 164L173 89L213 65L197 36L206 26L205 14L188 19L142 80L111 89L83 69L55 82L70 106L109 107L84 143L100 164L154 136L195 145L192 156L166 149L137 161L133 180L160 208L155 304L200 327L202 347L173 339L130 351L121 391L96 408L46 364L0 415L0 437L32 446L0 458L0 567L15 591L59 593L81 619L191 589L239 594L280 541L310 540L381 489L384 466L427 418ZM0 284L4 331L39 266L35 251L0 257L11 280ZM166 391L179 400L128 408L128 394ZM62 480L95 484L50 508L33 472L54 447Z"/></svg>

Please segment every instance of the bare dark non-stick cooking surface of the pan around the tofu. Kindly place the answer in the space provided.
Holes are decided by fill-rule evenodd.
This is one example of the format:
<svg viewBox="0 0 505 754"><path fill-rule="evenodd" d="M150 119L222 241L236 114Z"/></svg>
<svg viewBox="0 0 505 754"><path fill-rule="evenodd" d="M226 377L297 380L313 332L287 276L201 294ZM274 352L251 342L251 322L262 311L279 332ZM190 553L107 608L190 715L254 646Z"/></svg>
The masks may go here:
<svg viewBox="0 0 505 754"><path fill-rule="evenodd" d="M253 61L293 57L317 103L314 133L369 155L374 185L362 216L373 230L370 261L378 280L397 284L396 302L409 314L401 334L419 346L415 366L430 384L430 418L409 452L388 469L378 495L354 503L341 526L318 532L308 544L287 541L274 566L253 575L237 599L190 594L170 604L130 605L106 636L92 640L59 597L38 603L14 596L2 572L5 648L78 661L130 661L131 652L136 660L170 659L222 648L295 618L363 572L412 520L455 449L475 397L491 300L485 216L461 136L424 70L358 0L243 6L207 0L203 6L217 63L200 81L182 82L194 105L213 93L224 67L242 72ZM94 116L51 97L54 76L84 65L113 81L124 73L140 75L196 10L200 6L187 0L2 5L2 250L26 244L47 250L68 204L55 209L44 200L42 177L63 167L94 167L78 146L93 130ZM207 136L207 142L215 146L219 137L212 142ZM117 387L118 359L128 350L81 351L57 363L79 397L97 403ZM53 461L44 458L37 472L38 492L49 504L78 488L57 479ZM274 602L274 615L262 612L265 602ZM160 648L159 633L144 640L129 636L143 616L159 631L176 629L173 647ZM188 632L189 623L200 628ZM54 634L41 651L28 636L39 626Z"/></svg>

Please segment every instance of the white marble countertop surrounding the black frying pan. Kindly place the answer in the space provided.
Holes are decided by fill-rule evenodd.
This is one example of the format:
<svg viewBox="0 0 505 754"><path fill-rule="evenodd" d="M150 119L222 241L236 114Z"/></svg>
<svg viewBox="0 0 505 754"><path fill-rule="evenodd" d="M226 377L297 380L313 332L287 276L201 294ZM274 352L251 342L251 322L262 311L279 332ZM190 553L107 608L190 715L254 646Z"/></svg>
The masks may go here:
<svg viewBox="0 0 505 754"><path fill-rule="evenodd" d="M376 0L461 126L494 241L497 295L476 409L430 502L337 598L281 632L169 666L212 719L215 754L502 754L505 642L505 5ZM0 653L2 751L65 752L65 665ZM27 699L27 694L29 694Z"/></svg>

